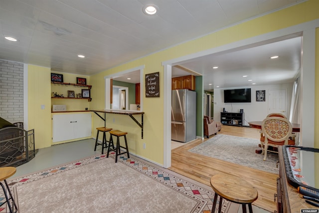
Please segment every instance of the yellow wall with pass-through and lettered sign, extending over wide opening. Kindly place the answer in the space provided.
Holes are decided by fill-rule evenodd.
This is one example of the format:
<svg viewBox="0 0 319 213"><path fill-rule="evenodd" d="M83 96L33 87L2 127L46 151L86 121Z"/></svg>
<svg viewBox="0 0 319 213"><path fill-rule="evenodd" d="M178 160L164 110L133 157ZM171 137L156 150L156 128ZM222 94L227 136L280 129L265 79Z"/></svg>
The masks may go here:
<svg viewBox="0 0 319 213"><path fill-rule="evenodd" d="M138 137L139 128L135 127L134 123L130 123L130 118L112 115L109 116L109 124L112 128L120 128L129 132L129 147L132 147L133 153L163 164L163 67L161 62L317 19L319 18L318 9L319 1L309 0L93 75L91 82L97 86L94 90L92 89L92 96L96 98L92 100L90 107L104 109L104 76L141 65L145 65L143 76L160 72L160 98L146 98L145 95L141 97L145 112L144 139ZM113 118L116 120L115 124L112 123ZM123 122L123 126L117 122ZM95 119L94 128L99 125L101 122ZM143 149L143 143L146 144L146 149Z"/></svg>

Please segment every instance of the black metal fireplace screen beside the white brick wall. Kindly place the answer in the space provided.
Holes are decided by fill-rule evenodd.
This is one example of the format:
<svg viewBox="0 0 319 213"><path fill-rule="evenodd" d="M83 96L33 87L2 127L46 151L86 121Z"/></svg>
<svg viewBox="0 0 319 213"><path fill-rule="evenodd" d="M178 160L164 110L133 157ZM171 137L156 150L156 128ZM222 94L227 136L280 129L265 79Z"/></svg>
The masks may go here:
<svg viewBox="0 0 319 213"><path fill-rule="evenodd" d="M18 127L0 129L0 167L19 165L35 156L34 129Z"/></svg>

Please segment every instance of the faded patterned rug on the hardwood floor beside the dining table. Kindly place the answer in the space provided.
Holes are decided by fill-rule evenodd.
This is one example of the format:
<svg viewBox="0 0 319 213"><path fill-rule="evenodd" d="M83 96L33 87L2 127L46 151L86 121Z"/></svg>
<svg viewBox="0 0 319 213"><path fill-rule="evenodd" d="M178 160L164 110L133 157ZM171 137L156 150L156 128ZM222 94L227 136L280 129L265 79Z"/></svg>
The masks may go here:
<svg viewBox="0 0 319 213"><path fill-rule="evenodd" d="M260 141L258 139L218 134L188 151L253 169L279 174L279 168L277 168L278 154L268 152L267 160L263 161L264 156L255 152L259 148L259 144Z"/></svg>

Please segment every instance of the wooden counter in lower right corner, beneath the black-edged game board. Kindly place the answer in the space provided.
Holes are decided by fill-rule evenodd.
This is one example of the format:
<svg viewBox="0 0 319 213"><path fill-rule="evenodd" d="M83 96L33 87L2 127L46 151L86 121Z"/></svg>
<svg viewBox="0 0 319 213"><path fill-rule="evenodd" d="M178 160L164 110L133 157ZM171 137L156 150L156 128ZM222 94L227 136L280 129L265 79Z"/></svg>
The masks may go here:
<svg viewBox="0 0 319 213"><path fill-rule="evenodd" d="M279 179L277 180L277 211L278 213L300 213L301 209L318 209L305 202L297 188L288 183L284 155L281 148L279 152Z"/></svg>

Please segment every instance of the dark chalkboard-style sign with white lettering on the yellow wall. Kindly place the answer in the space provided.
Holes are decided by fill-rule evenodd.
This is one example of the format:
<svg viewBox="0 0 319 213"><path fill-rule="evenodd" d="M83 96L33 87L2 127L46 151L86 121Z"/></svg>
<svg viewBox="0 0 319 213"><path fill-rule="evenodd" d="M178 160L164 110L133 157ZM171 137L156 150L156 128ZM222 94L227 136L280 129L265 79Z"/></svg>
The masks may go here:
<svg viewBox="0 0 319 213"><path fill-rule="evenodd" d="M160 97L160 72L145 74L145 96Z"/></svg>

